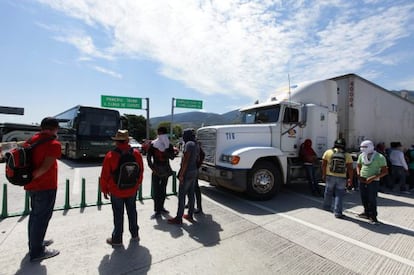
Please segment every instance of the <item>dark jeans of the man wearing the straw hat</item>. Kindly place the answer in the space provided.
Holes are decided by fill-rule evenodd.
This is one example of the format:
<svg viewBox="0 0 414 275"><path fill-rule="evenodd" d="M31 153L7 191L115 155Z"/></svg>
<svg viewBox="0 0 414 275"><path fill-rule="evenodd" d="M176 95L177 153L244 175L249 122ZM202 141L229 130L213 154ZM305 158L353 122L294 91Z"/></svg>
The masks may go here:
<svg viewBox="0 0 414 275"><path fill-rule="evenodd" d="M111 196L112 212L114 215L114 230L112 231L112 241L122 242L124 232L124 206L128 215L129 232L131 237L138 236L138 214L136 208L136 195L128 198L118 198Z"/></svg>

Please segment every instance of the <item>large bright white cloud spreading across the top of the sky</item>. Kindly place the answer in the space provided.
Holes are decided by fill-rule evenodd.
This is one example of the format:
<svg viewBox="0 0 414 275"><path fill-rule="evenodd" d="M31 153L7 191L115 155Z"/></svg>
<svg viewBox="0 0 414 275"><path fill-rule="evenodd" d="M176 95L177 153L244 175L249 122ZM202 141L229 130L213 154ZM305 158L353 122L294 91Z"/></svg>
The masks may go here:
<svg viewBox="0 0 414 275"><path fill-rule="evenodd" d="M84 58L150 59L201 93L253 99L286 84L288 73L299 82L395 64L386 51L412 35L414 18L410 1L40 2L109 33L105 47L91 34L59 36Z"/></svg>

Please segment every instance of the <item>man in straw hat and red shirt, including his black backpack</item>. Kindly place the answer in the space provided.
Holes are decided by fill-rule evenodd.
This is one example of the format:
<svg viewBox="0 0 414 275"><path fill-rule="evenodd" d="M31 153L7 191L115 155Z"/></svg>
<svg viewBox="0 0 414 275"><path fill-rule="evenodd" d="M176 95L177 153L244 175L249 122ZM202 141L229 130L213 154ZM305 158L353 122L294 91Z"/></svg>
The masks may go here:
<svg viewBox="0 0 414 275"><path fill-rule="evenodd" d="M142 183L144 165L140 152L128 144L128 130L118 130L112 140L116 142L116 148L105 155L99 183L105 199L111 197L114 230L106 242L115 247L122 245L124 207L131 240L139 241L136 197Z"/></svg>

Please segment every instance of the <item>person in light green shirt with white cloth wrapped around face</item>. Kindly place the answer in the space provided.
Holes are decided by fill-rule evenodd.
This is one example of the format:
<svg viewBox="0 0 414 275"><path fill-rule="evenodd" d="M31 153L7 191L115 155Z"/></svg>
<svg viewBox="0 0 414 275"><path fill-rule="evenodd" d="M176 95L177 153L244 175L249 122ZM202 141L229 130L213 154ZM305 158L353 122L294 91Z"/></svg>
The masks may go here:
<svg viewBox="0 0 414 275"><path fill-rule="evenodd" d="M383 155L374 150L374 144L370 140L364 140L360 149L356 172L360 182L364 212L358 216L369 219L372 224L378 224L377 193L380 178L388 174L387 161Z"/></svg>

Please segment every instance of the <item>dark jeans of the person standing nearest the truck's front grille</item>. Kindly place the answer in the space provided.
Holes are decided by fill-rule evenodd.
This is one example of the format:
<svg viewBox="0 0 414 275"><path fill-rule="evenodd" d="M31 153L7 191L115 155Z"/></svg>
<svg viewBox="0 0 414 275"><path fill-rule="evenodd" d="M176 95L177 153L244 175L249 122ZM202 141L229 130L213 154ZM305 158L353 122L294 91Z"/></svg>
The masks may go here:
<svg viewBox="0 0 414 275"><path fill-rule="evenodd" d="M180 182L178 188L178 210L177 219L182 219L184 215L185 197L188 196L188 215L193 216L194 213L194 188L197 180L198 171L189 171L184 176L184 182Z"/></svg>

